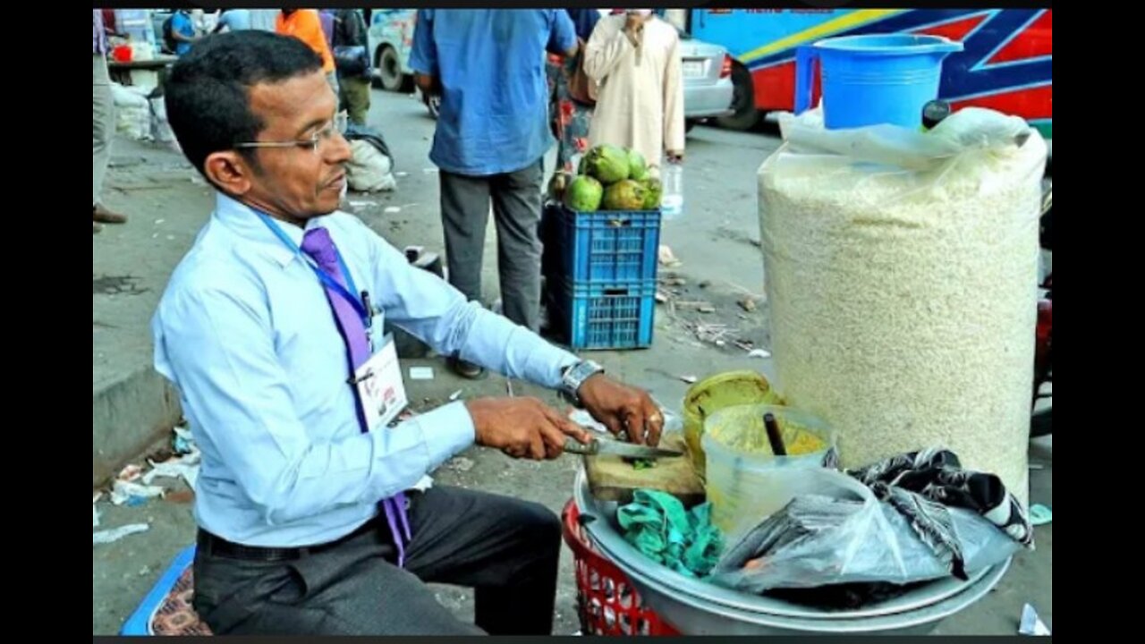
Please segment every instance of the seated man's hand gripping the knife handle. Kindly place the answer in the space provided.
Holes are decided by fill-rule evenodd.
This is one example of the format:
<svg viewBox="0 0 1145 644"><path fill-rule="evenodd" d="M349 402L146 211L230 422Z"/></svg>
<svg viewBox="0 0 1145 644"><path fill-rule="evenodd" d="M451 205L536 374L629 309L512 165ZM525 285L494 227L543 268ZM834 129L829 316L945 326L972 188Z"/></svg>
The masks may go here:
<svg viewBox="0 0 1145 644"><path fill-rule="evenodd" d="M556 458L564 438L587 443L589 432L535 398L480 398L465 403L476 427L476 442L514 458Z"/></svg>

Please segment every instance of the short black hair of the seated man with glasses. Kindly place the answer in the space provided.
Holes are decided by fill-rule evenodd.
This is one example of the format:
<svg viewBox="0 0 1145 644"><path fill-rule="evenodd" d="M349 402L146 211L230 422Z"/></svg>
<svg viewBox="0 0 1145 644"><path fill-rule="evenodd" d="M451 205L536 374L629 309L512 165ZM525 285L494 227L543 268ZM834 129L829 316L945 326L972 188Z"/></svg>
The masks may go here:
<svg viewBox="0 0 1145 644"><path fill-rule="evenodd" d="M171 70L167 120L188 160L204 172L207 156L254 141L266 127L251 111L252 87L321 70L322 58L297 38L260 30L208 36Z"/></svg>

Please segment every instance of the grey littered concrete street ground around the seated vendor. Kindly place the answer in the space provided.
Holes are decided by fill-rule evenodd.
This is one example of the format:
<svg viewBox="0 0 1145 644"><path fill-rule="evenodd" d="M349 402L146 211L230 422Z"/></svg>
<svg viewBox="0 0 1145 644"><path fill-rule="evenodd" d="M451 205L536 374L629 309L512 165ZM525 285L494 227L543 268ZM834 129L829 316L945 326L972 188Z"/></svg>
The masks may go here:
<svg viewBox="0 0 1145 644"><path fill-rule="evenodd" d="M400 187L390 194L352 195L352 209L398 248L418 244L441 252L437 174L427 158L433 120L411 97L377 91L370 118L397 155ZM681 291L680 299L709 301L716 313L678 309L673 317L660 307L652 348L593 354L611 374L649 388L669 407L678 407L688 386L680 377L742 368L773 375L771 360L749 358L731 343L722 348L701 343L684 324L722 323L732 329L729 339L768 346L755 178L759 164L776 146L777 140L766 132L693 131L686 215L665 223L662 241L682 262L671 269L682 282L674 286ZM171 270L190 248L212 206L211 190L179 154L123 140L114 146L105 201L132 219L125 226L106 226L92 241L93 486L124 463L139 462L156 441L167 440L179 418L177 399L151 370L148 325ZM483 274L490 301L497 292L495 243L490 233ZM759 306L744 311L737 303L745 298ZM414 364L432 366L436 374L431 382L406 380L416 407L432 407L458 390L464 396L504 395L506 391L500 376L460 380L440 359L406 363ZM520 382L514 383L514 392L536 393L556 402L552 394ZM1052 506L1052 439L1032 443L1030 454L1037 466L1032 472L1032 498ZM516 495L559 511L571 494L575 471L572 457L531 463L473 448L447 463L435 477L439 485ZM191 543L195 524L185 495L136 508L106 502L98 506L101 528L132 523L151 526L145 533L93 547L92 629L94 635L106 635L119 630L172 557ZM1039 528L1037 550L1020 555L989 597L943 622L939 633L1014 634L1026 603L1033 604L1052 628L1052 526ZM440 587L439 597L459 614L472 615L472 600L465 591ZM556 612L556 634L578 629L567 550Z"/></svg>

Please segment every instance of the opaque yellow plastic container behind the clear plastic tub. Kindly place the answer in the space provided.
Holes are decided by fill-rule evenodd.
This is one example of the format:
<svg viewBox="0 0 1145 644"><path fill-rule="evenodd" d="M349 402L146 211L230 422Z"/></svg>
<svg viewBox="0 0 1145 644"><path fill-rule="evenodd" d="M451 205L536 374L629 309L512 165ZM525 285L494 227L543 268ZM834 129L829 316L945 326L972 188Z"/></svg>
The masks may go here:
<svg viewBox="0 0 1145 644"><path fill-rule="evenodd" d="M772 385L756 371L727 371L705 378L688 388L684 396L684 440L692 466L704 478L704 421L708 416L737 405L781 402Z"/></svg>

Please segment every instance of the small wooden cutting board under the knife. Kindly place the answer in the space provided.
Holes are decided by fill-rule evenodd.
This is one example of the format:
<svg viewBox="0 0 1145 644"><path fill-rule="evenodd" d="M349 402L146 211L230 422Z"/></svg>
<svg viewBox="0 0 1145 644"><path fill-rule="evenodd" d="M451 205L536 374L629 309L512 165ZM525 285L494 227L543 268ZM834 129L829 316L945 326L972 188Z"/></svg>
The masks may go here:
<svg viewBox="0 0 1145 644"><path fill-rule="evenodd" d="M684 438L668 434L661 447L685 450ZM704 501L704 485L692 468L692 460L685 456L658 458L656 465L637 470L619 456L585 456L585 473L592 495L601 501L629 503L637 489L657 489L679 498L686 506Z"/></svg>

